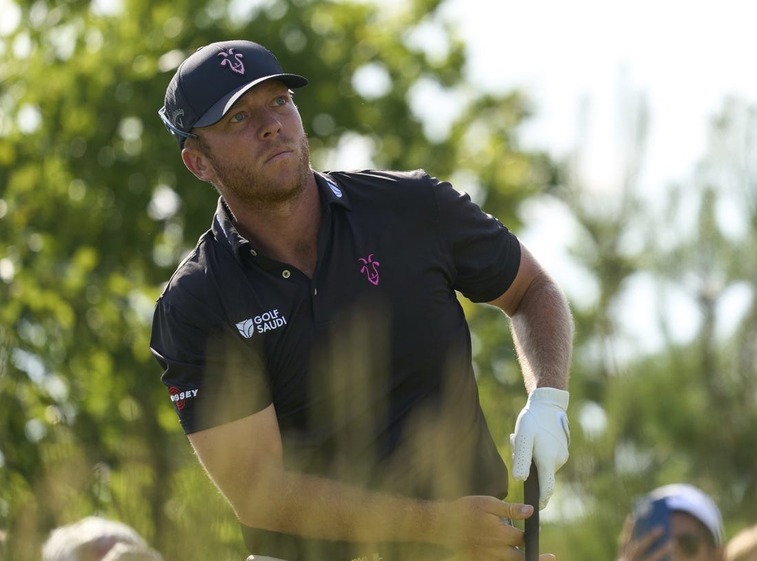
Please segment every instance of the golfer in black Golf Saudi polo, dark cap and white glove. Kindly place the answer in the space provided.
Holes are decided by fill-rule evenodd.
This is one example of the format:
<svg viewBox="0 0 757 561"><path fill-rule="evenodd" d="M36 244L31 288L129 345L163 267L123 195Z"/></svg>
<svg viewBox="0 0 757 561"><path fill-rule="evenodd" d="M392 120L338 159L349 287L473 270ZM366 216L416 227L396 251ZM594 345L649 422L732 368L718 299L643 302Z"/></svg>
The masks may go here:
<svg viewBox="0 0 757 561"><path fill-rule="evenodd" d="M512 318L530 393L513 476L568 457L572 319L531 254L422 171L319 173L254 42L184 61L160 117L220 193L157 302L151 349L255 559L522 559L529 506L481 413L456 291ZM550 558L550 557L547 557Z"/></svg>

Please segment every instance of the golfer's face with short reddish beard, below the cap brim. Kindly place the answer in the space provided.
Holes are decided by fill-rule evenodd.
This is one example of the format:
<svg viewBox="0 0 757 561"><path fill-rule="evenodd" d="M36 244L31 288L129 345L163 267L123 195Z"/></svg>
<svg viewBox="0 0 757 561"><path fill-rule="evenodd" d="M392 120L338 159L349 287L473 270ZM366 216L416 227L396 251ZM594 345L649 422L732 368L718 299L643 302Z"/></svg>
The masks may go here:
<svg viewBox="0 0 757 561"><path fill-rule="evenodd" d="M234 203L268 208L298 195L310 171L310 151L288 88L255 86L222 120L195 129L200 143L182 152L187 167Z"/></svg>

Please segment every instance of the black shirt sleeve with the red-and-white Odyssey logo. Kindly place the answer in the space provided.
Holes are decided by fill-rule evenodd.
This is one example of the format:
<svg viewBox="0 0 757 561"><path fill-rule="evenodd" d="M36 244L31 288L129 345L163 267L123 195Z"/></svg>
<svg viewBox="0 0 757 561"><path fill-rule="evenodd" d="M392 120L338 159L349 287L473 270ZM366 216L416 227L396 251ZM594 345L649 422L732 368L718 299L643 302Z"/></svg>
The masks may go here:
<svg viewBox="0 0 757 561"><path fill-rule="evenodd" d="M150 348L186 434L257 413L271 403L262 346L242 340L201 302L161 297Z"/></svg>

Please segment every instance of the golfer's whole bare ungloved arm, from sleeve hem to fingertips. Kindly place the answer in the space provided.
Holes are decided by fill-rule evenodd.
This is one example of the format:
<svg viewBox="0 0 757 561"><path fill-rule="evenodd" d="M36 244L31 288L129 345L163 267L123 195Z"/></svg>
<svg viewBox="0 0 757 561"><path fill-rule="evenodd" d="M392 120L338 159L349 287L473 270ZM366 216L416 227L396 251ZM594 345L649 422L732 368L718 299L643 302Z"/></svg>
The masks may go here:
<svg viewBox="0 0 757 561"><path fill-rule="evenodd" d="M238 519L254 528L348 541L425 541L467 553L521 545L522 533L500 516L524 519L532 512L494 497L413 500L285 470L273 405L189 440ZM508 558L498 555L480 559Z"/></svg>

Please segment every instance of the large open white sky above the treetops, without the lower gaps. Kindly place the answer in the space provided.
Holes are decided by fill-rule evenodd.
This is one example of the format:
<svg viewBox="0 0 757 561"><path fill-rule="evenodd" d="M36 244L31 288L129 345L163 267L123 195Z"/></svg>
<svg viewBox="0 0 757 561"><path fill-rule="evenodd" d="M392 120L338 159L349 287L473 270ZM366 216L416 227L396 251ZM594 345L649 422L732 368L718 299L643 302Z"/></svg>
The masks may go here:
<svg viewBox="0 0 757 561"><path fill-rule="evenodd" d="M448 0L445 11L468 42L474 83L528 92L537 116L525 141L556 154L575 145L584 100L594 135L618 132L625 83L650 102L651 179L678 178L726 95L757 101L754 2Z"/></svg>

